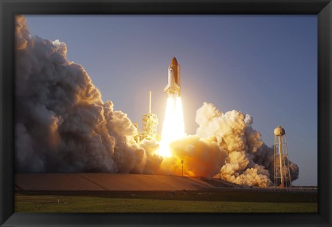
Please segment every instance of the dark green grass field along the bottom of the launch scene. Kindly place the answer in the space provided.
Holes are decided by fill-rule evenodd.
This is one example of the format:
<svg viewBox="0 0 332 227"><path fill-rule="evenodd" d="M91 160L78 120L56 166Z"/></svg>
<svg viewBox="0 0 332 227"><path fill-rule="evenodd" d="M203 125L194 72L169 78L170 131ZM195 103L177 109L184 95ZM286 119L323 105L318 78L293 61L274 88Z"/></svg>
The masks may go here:
<svg viewBox="0 0 332 227"><path fill-rule="evenodd" d="M15 212L317 212L317 194L262 192L24 192Z"/></svg>

